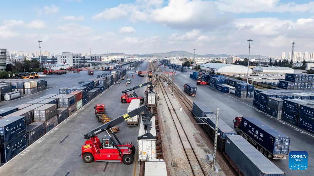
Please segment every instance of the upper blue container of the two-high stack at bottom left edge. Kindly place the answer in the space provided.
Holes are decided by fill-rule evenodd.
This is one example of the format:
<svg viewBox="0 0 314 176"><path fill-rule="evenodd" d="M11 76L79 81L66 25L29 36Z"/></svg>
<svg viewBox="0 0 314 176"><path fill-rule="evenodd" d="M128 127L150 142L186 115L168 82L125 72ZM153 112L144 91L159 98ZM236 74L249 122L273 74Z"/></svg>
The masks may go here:
<svg viewBox="0 0 314 176"><path fill-rule="evenodd" d="M0 144L7 143L25 132L25 116L9 116L0 120Z"/></svg>

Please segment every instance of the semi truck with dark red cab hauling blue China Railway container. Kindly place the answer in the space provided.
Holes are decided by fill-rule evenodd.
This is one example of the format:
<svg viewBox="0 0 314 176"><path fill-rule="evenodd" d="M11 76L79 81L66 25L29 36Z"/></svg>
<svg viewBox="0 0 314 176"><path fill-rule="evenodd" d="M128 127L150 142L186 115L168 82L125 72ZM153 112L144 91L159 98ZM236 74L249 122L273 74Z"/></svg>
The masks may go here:
<svg viewBox="0 0 314 176"><path fill-rule="evenodd" d="M233 120L234 130L249 141L267 158L286 159L290 137L254 117L238 117Z"/></svg>

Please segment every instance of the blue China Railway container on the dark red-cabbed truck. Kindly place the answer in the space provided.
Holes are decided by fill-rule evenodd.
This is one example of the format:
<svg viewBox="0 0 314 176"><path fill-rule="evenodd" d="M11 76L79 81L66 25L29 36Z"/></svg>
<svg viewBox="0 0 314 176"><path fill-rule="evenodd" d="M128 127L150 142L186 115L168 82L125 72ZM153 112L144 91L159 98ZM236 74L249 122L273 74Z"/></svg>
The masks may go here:
<svg viewBox="0 0 314 176"><path fill-rule="evenodd" d="M272 155L288 155L290 137L254 117L242 117L241 131Z"/></svg>

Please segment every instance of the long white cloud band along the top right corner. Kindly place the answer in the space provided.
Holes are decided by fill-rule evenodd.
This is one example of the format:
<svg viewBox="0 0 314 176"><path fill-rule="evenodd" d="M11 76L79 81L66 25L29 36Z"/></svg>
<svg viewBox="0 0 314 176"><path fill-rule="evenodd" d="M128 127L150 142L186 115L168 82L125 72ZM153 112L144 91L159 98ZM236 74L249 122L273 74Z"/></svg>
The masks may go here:
<svg viewBox="0 0 314 176"><path fill-rule="evenodd" d="M295 4L294 2L282 3L280 0L217 0L221 12L231 13L258 13L258 12L313 12L314 2Z"/></svg>

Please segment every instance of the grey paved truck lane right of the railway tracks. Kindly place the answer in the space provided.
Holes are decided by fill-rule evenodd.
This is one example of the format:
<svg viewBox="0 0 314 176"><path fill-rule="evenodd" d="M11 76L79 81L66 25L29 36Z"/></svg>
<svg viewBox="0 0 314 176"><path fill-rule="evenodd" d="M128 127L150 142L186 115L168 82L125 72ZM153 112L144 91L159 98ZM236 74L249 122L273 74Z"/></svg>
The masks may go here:
<svg viewBox="0 0 314 176"><path fill-rule="evenodd" d="M173 71L169 68L162 68L164 71ZM175 84L183 92L183 85L185 83L191 83L196 85L196 80L189 77L192 74L192 70L188 69L188 72L176 71ZM257 110L253 106L253 98L239 98L229 93L222 93L214 90L208 85L196 85L197 95L194 97L189 96L191 101L202 101L212 111L219 108L219 118L224 120L230 127L233 128L233 120L236 116L253 116L270 125L271 127L279 130L291 138L289 151L307 151L308 152L308 168L314 167L314 152L313 143L314 135L310 132L306 132L298 127L289 125L288 123L275 119L262 111ZM289 169L289 159L274 160L271 161L278 166L281 170L287 173L287 176L295 176L300 174L298 171ZM314 175L313 169L308 169L304 172L307 175Z"/></svg>

